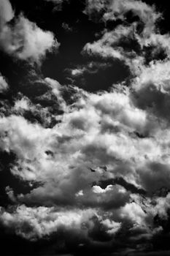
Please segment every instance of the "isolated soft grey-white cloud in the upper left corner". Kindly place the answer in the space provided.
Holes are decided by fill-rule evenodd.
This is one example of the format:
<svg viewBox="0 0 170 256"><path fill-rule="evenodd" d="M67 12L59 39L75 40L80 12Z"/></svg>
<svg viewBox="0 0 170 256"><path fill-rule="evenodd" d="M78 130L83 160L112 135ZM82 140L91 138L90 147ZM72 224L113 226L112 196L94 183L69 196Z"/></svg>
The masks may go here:
<svg viewBox="0 0 170 256"><path fill-rule="evenodd" d="M0 14L1 50L18 59L39 62L47 51L58 48L59 44L52 32L43 31L22 14L15 18L14 25L9 25L9 21L14 18L12 7L8 0L2 1L1 5L4 9L3 15Z"/></svg>

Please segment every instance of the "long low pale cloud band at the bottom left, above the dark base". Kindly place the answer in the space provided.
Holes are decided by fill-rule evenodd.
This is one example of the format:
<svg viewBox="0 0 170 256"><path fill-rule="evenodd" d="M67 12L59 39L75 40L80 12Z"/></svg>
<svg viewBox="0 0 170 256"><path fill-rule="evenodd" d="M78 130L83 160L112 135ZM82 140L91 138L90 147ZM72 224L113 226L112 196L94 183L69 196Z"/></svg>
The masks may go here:
<svg viewBox="0 0 170 256"><path fill-rule="evenodd" d="M63 231L63 238L64 236L66 238L70 232L73 236L79 233L80 238L75 237L77 239L75 242L80 242L80 239L90 240L90 233L93 233L98 225L101 225L108 235L113 235L120 229L120 223L103 219L98 216L96 210L90 208L85 210L74 208L74 210L65 211L62 208L44 206L29 208L20 205L13 211L6 211L4 208L0 210L1 225L30 241L49 237L51 234L62 234Z"/></svg>

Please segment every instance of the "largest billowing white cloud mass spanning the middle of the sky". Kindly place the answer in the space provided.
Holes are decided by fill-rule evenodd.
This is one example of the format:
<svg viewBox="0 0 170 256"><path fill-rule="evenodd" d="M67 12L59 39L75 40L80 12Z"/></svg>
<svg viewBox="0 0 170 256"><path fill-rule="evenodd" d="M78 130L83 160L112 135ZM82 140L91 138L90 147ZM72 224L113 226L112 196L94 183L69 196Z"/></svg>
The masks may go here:
<svg viewBox="0 0 170 256"><path fill-rule="evenodd" d="M49 78L46 82L62 105L61 86ZM162 139L136 136L135 132L146 137L157 136L157 121L147 116L145 110L136 108L130 96L128 90L102 94L77 91L77 101L70 106L64 103L65 112L58 116L60 122L53 129L32 124L22 116L1 118L1 148L17 156L12 174L26 181L42 182L42 187L34 189L31 195L20 196L20 200L50 204L66 200L77 204L75 194L86 189L82 201L93 204L96 196L90 195L89 184L101 180L103 172L92 175L89 167L102 165L108 167L105 179L123 175L127 182L145 187L146 181L141 184L138 177L140 174L142 178L142 173L134 168L143 170L148 162L163 163L165 151ZM16 105L18 102L15 109ZM168 134L164 132L165 138ZM168 148L166 154L169 154ZM128 200L128 195L117 193L123 196L123 202Z"/></svg>

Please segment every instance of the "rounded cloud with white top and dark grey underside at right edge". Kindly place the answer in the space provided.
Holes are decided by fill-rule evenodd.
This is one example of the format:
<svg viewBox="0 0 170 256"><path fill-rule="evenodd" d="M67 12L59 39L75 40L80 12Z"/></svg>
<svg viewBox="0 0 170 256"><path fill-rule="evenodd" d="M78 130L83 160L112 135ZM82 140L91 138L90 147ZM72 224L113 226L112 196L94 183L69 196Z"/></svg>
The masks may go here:
<svg viewBox="0 0 170 256"><path fill-rule="evenodd" d="M143 67L134 80L134 89L134 102L139 108L147 108L169 121L169 61L155 61Z"/></svg>

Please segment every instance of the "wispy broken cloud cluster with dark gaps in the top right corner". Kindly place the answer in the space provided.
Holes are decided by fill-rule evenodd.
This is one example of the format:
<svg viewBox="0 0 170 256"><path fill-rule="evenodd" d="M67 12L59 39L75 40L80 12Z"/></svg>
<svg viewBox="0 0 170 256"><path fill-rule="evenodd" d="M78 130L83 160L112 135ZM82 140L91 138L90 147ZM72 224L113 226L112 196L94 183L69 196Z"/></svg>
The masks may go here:
<svg viewBox="0 0 170 256"><path fill-rule="evenodd" d="M127 18L129 12L135 18L131 23L128 23ZM123 24L111 31L101 31L101 37L88 42L83 53L104 59L119 59L130 68L133 75L141 73L148 56L151 61L157 59L159 54L169 56L169 34L159 31L157 23L162 14L157 12L155 6L134 0L87 1L85 13L89 16L93 13L99 17L102 15L105 22L123 20Z"/></svg>

